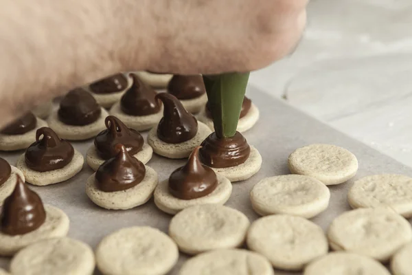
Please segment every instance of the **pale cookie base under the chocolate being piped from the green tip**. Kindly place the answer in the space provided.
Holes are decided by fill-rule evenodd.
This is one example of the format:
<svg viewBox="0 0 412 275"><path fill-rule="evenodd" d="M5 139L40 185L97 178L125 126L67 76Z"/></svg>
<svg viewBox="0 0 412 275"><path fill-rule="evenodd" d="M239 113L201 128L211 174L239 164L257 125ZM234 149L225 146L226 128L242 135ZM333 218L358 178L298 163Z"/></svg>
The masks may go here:
<svg viewBox="0 0 412 275"><path fill-rule="evenodd" d="M246 162L237 166L227 168L214 168L211 167L216 173L222 174L231 182L242 181L249 179L255 173L258 173L262 166L262 156L257 148L251 146L251 154L247 158Z"/></svg>

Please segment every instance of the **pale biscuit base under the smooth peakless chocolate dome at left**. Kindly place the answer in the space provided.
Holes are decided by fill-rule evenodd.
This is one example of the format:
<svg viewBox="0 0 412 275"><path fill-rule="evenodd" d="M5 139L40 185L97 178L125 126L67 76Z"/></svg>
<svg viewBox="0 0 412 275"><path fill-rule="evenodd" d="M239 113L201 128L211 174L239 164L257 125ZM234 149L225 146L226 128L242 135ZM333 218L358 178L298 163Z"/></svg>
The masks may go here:
<svg viewBox="0 0 412 275"><path fill-rule="evenodd" d="M100 117L95 122L84 126L68 125L61 122L58 119L57 110L55 110L47 119L49 127L56 132L56 134L64 140L89 140L91 137L95 137L102 130L106 129L104 120L108 113L105 109L102 109Z"/></svg>

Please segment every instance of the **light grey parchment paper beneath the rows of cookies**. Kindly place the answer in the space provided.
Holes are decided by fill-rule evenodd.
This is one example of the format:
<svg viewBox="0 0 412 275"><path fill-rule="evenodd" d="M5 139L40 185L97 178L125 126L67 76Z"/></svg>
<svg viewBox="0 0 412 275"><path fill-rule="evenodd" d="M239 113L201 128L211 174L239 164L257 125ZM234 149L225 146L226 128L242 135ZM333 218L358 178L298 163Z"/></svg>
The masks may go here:
<svg viewBox="0 0 412 275"><path fill-rule="evenodd" d="M288 174L288 155L296 148L306 144L328 143L350 150L359 161L359 171L355 179L379 173L399 173L412 176L412 168L378 153L365 144L310 118L258 89L249 87L247 94L260 109L260 120L244 136L247 137L249 144L258 148L263 157L263 164L257 175L247 181L233 184L233 192L226 205L244 212L251 221L259 217L253 212L249 201L249 192L253 185L264 177ZM144 133L144 137L146 138L146 133ZM89 146L93 144L93 140L73 142L72 144L74 148L85 155ZM7 159L10 164L14 164L16 158L22 153L24 152L0 153L0 157ZM147 165L157 171L159 180L163 180L175 168L183 164L183 160L170 160L154 155ZM43 187L30 186L38 192L45 203L57 206L67 213L71 222L69 231L71 238L89 243L94 249L104 236L127 226L150 225L163 232L168 232L168 224L172 216L158 210L152 200L144 206L126 211L105 210L95 206L84 192L86 179L92 173L93 170L85 163L83 170L76 177L64 183ZM353 180L346 184L330 187L331 197L328 210L312 219L321 225L323 230L327 230L334 217L350 210L346 196ZM411 222L412 219L409 221ZM179 267L185 259L187 256L181 254L179 263L170 272L170 275L178 274ZM9 262L10 259L0 258L0 267L8 269ZM100 274L100 272L96 270L95 274ZM276 271L276 274L298 275L301 273Z"/></svg>

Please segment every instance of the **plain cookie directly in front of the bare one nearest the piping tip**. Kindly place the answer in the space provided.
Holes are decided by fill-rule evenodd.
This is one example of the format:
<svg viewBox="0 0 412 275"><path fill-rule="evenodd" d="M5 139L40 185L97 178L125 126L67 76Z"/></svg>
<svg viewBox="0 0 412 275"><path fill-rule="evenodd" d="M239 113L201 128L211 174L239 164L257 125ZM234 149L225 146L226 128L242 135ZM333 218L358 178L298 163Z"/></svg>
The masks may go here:
<svg viewBox="0 0 412 275"><path fill-rule="evenodd" d="M247 234L247 246L280 270L302 270L328 253L328 240L319 225L286 214L254 221Z"/></svg>

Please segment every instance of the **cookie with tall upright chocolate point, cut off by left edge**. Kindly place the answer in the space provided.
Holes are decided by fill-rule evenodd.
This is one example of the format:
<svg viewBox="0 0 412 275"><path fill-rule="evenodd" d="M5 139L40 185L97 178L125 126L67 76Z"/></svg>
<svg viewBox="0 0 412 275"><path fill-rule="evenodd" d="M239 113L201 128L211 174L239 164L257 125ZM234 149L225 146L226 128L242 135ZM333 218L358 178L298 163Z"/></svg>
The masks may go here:
<svg viewBox="0 0 412 275"><path fill-rule="evenodd" d="M36 241L65 236L68 231L67 215L53 206L43 206L36 192L18 176L1 209L0 255L11 256Z"/></svg>

